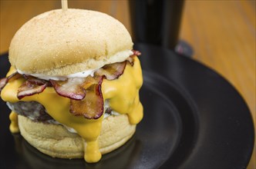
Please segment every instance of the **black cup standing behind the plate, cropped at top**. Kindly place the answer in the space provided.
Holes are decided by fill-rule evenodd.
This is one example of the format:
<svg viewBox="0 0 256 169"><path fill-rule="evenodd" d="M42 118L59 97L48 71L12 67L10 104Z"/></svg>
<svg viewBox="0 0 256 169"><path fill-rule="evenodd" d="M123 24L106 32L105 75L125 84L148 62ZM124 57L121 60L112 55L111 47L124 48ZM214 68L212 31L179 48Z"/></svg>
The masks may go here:
<svg viewBox="0 0 256 169"><path fill-rule="evenodd" d="M130 0L133 41L174 49L184 0Z"/></svg>

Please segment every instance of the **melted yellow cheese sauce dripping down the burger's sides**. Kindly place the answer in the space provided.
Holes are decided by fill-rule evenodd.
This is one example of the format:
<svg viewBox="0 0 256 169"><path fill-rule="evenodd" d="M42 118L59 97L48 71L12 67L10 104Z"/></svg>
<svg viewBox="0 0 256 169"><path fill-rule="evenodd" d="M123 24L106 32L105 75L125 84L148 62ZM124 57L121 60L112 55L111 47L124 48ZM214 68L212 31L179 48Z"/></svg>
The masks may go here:
<svg viewBox="0 0 256 169"><path fill-rule="evenodd" d="M10 68L7 75L15 72L14 68ZM76 132L86 141L85 155L86 162L97 162L101 158L99 152L99 137L103 116L99 119L86 119L83 116L74 116L69 112L69 98L64 98L56 94L54 88L45 88L40 94L27 96L19 100L17 91L24 80L18 79L9 81L1 92L1 98L4 101L37 101L45 107L45 110L59 123L66 125L69 128L74 128ZM143 106L140 103L139 89L143 84L142 71L140 61L134 58L134 65L126 65L126 68L118 79L113 81L103 80L102 93L104 101L109 101L110 107L120 114L127 114L130 124L137 124L143 118ZM10 114L10 130L12 132L19 131L17 124L17 114Z"/></svg>

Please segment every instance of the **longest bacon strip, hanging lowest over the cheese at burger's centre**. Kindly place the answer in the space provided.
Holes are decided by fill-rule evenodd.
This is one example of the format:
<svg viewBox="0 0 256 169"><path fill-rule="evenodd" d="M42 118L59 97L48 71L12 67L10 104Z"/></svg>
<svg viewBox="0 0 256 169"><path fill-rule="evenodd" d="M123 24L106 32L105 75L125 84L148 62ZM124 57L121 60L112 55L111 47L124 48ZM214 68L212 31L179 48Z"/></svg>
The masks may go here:
<svg viewBox="0 0 256 169"><path fill-rule="evenodd" d="M101 85L103 76L94 78L94 81L85 81L83 86L86 89L86 97L81 101L70 99L70 112L76 116L83 115L85 118L97 119L103 115L103 94L101 92ZM88 85L89 84L89 85Z"/></svg>

